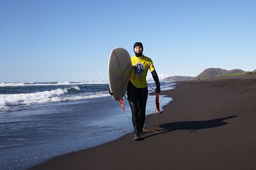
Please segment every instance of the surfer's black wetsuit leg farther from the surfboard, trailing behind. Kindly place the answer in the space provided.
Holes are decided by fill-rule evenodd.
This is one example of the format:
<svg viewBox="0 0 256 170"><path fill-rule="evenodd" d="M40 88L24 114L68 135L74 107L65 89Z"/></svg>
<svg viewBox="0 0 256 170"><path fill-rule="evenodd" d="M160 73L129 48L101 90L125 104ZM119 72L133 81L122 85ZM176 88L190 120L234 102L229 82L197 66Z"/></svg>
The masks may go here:
<svg viewBox="0 0 256 170"><path fill-rule="evenodd" d="M148 99L148 88L141 88L139 93L139 118L140 118L140 131L142 131L144 122L145 122L145 116L146 116L146 104Z"/></svg>

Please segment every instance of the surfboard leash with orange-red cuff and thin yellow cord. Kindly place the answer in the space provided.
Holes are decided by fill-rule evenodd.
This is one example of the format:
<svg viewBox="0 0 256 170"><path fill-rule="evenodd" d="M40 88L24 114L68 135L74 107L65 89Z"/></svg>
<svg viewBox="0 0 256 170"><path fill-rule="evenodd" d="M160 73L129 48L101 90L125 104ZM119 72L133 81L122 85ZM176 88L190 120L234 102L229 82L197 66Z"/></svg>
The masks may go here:
<svg viewBox="0 0 256 170"><path fill-rule="evenodd" d="M128 100L128 98L127 98L125 95L123 95L123 96ZM125 112L126 116L132 121L132 119L128 116L128 114L127 114L126 111L125 111L123 99L117 99L117 100L121 103L122 109L123 109L123 111ZM156 123L156 125L157 125L157 127L158 127L158 129L159 129L159 132L157 132L157 131L155 131L155 130L147 130L147 129L144 129L144 128L143 128L143 130L148 131L148 132L159 133L159 134L161 133L161 128L160 128L160 126L159 126L158 123L157 123L157 111L158 111L160 114L162 114L162 112L160 111L159 95L158 95L158 93L156 92L156 108L155 108L154 117L155 117L155 123Z"/></svg>

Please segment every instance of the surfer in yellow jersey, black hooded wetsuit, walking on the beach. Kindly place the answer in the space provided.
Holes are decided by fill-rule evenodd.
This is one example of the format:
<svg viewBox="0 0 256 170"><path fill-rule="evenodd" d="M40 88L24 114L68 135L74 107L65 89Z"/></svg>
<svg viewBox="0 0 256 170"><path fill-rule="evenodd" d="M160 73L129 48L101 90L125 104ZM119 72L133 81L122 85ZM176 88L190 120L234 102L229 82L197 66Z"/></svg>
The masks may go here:
<svg viewBox="0 0 256 170"><path fill-rule="evenodd" d="M143 126L145 122L146 103L148 99L148 85L146 76L148 69L151 71L156 89L160 93L160 82L155 71L152 60L143 55L143 45L141 42L134 43L135 55L131 57L132 71L127 87L127 96L132 113L132 123L134 126L134 140L140 140L144 134Z"/></svg>

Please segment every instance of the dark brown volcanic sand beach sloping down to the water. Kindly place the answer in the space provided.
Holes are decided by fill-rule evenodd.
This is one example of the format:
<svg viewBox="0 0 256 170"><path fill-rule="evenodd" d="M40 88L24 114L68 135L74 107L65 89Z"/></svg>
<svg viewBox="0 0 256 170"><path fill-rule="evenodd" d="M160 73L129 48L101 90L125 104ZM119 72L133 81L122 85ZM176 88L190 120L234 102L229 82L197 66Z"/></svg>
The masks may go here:
<svg viewBox="0 0 256 170"><path fill-rule="evenodd" d="M174 99L157 115L162 134L146 133L139 142L128 134L32 169L256 169L256 74L182 82L161 94ZM157 130L154 115L146 124Z"/></svg>

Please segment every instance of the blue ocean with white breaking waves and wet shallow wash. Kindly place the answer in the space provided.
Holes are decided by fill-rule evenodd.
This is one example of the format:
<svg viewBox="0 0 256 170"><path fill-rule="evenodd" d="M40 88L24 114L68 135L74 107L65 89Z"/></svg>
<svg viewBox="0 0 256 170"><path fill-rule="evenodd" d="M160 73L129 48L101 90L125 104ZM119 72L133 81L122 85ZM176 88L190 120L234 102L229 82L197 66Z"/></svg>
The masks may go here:
<svg viewBox="0 0 256 170"><path fill-rule="evenodd" d="M174 82L160 82L161 89ZM154 82L148 82L153 92ZM146 113L155 112L148 96ZM163 107L171 97L160 95ZM128 101L124 107L131 117ZM0 83L0 169L24 170L54 156L95 147L133 132L108 81Z"/></svg>

